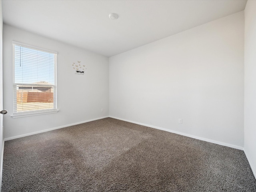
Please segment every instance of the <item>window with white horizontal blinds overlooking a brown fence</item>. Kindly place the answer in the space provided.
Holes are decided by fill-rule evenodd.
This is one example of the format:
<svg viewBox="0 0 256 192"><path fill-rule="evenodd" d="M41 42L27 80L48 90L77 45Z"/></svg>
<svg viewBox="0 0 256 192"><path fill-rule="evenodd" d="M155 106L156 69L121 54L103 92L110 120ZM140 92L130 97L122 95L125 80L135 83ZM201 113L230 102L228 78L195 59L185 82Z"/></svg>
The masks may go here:
<svg viewBox="0 0 256 192"><path fill-rule="evenodd" d="M13 42L14 116L57 110L56 52Z"/></svg>

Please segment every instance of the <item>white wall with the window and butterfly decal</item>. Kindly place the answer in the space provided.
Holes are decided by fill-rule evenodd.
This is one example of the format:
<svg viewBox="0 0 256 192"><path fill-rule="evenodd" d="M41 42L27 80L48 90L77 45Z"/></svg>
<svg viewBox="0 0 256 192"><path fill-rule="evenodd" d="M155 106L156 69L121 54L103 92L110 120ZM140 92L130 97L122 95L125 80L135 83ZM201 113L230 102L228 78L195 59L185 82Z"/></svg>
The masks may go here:
<svg viewBox="0 0 256 192"><path fill-rule="evenodd" d="M76 124L108 116L108 58L12 26L3 26L4 138ZM56 114L12 118L12 41L58 52ZM75 74L72 63L86 65L85 75ZM101 109L104 112L101 112Z"/></svg>

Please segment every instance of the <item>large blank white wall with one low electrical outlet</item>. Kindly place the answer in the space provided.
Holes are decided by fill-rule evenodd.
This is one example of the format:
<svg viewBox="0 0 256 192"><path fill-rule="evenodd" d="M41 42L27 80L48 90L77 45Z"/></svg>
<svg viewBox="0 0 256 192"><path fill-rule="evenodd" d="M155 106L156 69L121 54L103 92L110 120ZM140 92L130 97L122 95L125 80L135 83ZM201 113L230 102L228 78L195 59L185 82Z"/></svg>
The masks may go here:
<svg viewBox="0 0 256 192"><path fill-rule="evenodd" d="M110 116L243 147L243 11L109 63Z"/></svg>

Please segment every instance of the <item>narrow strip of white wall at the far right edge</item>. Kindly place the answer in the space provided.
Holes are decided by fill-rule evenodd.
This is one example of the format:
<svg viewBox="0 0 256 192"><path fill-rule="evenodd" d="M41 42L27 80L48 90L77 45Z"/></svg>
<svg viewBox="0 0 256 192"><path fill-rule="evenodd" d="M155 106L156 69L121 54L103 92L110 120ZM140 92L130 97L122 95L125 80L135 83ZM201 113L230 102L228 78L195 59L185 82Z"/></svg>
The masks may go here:
<svg viewBox="0 0 256 192"><path fill-rule="evenodd" d="M256 178L256 1L244 10L244 151Z"/></svg>

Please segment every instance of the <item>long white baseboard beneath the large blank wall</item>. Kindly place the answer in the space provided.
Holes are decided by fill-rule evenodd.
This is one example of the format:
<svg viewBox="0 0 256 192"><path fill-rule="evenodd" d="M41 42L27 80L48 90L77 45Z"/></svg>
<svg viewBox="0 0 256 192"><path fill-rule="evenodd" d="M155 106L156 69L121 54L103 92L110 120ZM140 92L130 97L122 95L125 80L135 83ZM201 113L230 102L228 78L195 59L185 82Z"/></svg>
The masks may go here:
<svg viewBox="0 0 256 192"><path fill-rule="evenodd" d="M138 124L138 125L147 126L147 127L150 127L150 128L155 128L155 129L159 129L159 130L163 130L163 131L168 131L168 132L171 132L171 133L191 137L191 138L194 138L194 139L198 139L198 140L202 140L202 141L206 141L206 142L210 142L210 143L214 143L214 144L219 144L219 145L222 145L222 146L227 146L227 147L231 147L231 148L235 148L235 149L239 149L239 150L244 150L243 147L232 145L232 144L227 144L227 143L223 143L223 142L219 142L219 141L215 141L215 140L210 140L210 139L206 139L206 138L202 138L202 137L198 137L198 136L194 136L194 135L190 135L190 134L185 134L185 133L178 132L178 131L173 131L173 130L169 130L169 129L165 129L165 128L161 128L161 127L157 127L157 126L152 126L152 125L148 125L148 124L143 124L143 123L139 123L139 122L134 122L134 121L130 121L130 120L122 119L122 118L117 118L117 117L113 117L113 116L109 116L109 117L114 118L114 119L118 119L118 120L122 120L122 121L126 121L126 122L130 122L130 123L134 123L134 124Z"/></svg>

